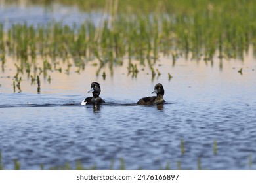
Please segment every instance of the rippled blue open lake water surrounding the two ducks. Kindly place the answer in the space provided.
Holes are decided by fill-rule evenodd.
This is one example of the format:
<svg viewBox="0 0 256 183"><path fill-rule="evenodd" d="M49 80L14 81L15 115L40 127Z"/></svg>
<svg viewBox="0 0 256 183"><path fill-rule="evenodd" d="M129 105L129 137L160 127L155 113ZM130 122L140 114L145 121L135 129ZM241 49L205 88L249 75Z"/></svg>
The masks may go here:
<svg viewBox="0 0 256 183"><path fill-rule="evenodd" d="M80 74L49 72L40 92L22 75L13 92L15 60L7 58L0 78L0 151L4 169L45 169L79 160L84 167L119 169L256 169L256 59L252 48L244 61L216 57L205 61L160 57L160 76L146 67L128 75L127 61L96 76L91 62ZM137 63L134 61L134 63ZM137 63L139 64L139 62ZM64 66L65 67L65 66ZM238 73L242 70L242 75ZM106 79L102 78L105 71ZM168 73L173 78L168 80ZM91 82L100 83L100 107L80 106ZM139 106L154 85L165 89L164 105ZM184 142L184 149L181 141ZM214 143L215 142L215 143ZM214 144L217 144L217 148ZM184 150L184 152L183 152Z"/></svg>

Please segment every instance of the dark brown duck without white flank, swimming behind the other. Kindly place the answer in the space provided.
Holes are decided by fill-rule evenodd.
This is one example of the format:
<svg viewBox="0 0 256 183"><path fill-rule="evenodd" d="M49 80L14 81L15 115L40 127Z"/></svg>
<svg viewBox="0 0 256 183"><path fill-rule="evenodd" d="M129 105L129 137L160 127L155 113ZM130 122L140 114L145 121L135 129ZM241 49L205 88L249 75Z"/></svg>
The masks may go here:
<svg viewBox="0 0 256 183"><path fill-rule="evenodd" d="M158 83L155 86L155 90L153 93L156 93L156 97L144 97L140 99L137 104L139 105L151 105L151 104L161 104L164 103L165 100L163 99L163 95L165 93L165 90L163 90L163 85Z"/></svg>

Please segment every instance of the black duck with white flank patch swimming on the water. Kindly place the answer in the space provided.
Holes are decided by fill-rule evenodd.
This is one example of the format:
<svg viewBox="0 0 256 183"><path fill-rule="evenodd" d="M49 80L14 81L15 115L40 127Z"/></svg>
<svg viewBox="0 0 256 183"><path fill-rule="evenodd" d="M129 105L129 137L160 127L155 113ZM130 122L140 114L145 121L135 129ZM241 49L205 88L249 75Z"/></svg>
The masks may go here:
<svg viewBox="0 0 256 183"><path fill-rule="evenodd" d="M81 102L81 105L99 105L104 103L105 101L100 98L100 84L98 82L92 82L91 90L88 91L93 93L93 97L87 97L84 101Z"/></svg>

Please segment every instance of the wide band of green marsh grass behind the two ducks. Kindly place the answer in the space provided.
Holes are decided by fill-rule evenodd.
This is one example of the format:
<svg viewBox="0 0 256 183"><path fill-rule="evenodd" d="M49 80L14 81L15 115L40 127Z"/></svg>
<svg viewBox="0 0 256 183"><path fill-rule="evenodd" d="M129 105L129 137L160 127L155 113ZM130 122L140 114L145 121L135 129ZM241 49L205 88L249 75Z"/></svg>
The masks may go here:
<svg viewBox="0 0 256 183"><path fill-rule="evenodd" d="M47 0L33 1L47 3ZM0 23L0 61L5 68L5 56L18 60L19 74L33 73L47 79L47 71L62 71L57 59L70 67L77 67L77 73L85 69L87 61L97 60L96 75L106 75L101 69L108 65L110 75L114 66L123 64L129 58L128 72L136 77L135 63L156 72L156 61L170 55L173 66L179 57L202 59L206 63L216 54L219 59L242 59L249 44L256 44L256 1L64 1L67 5L79 5L88 13L103 12L100 25L87 18L81 25L64 25L50 22L45 25L14 24L6 32ZM189 54L190 53L190 54ZM43 58L43 63L41 59ZM70 62L72 59L73 63ZM40 62L40 63L38 63ZM222 63L222 62L221 62ZM39 66L41 65L41 66ZM220 65L222 68L222 65ZM242 73L242 71L240 72ZM106 74L106 73L105 73ZM169 80L170 80L169 75ZM18 82L18 80L16 80ZM20 90L20 88L19 88ZM21 91L21 90L20 90Z"/></svg>

